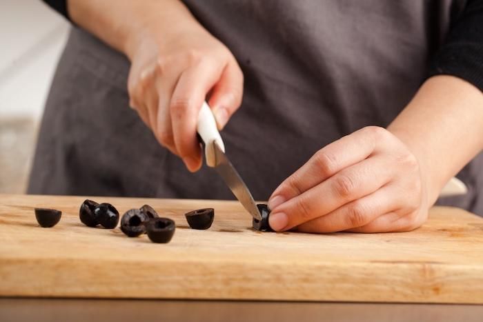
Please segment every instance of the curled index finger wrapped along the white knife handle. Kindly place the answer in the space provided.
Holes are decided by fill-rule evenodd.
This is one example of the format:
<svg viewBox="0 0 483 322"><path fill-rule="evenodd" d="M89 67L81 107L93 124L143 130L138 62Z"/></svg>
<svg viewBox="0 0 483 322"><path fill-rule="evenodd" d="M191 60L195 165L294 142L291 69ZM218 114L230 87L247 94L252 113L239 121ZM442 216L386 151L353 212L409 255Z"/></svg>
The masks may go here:
<svg viewBox="0 0 483 322"><path fill-rule="evenodd" d="M218 63L202 61L181 74L172 94L170 113L176 149L192 172L201 167L201 149L196 138L199 109L222 69Z"/></svg>

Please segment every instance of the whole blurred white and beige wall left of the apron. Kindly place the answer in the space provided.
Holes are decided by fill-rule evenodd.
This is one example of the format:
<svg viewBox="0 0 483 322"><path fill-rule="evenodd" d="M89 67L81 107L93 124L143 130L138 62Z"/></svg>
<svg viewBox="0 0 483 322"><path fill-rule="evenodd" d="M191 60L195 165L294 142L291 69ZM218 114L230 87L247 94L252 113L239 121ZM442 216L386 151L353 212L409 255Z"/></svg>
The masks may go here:
<svg viewBox="0 0 483 322"><path fill-rule="evenodd" d="M0 0L0 193L21 193L69 23L40 0Z"/></svg>

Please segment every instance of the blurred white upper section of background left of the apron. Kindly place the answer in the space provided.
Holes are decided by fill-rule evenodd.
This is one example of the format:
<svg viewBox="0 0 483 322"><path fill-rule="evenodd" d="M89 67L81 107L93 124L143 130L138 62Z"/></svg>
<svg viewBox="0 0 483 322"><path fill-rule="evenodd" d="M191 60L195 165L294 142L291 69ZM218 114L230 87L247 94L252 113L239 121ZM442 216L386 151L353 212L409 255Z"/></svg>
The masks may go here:
<svg viewBox="0 0 483 322"><path fill-rule="evenodd" d="M0 0L0 119L38 121L68 26L41 0Z"/></svg>

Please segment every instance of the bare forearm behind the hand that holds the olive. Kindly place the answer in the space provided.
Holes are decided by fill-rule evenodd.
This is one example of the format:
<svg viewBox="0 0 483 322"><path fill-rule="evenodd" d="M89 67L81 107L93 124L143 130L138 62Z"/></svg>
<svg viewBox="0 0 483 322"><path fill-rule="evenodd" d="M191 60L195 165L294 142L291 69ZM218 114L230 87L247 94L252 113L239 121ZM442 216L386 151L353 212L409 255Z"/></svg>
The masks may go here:
<svg viewBox="0 0 483 322"><path fill-rule="evenodd" d="M483 93L457 77L431 77L388 130L420 161L434 203L446 182L483 149Z"/></svg>

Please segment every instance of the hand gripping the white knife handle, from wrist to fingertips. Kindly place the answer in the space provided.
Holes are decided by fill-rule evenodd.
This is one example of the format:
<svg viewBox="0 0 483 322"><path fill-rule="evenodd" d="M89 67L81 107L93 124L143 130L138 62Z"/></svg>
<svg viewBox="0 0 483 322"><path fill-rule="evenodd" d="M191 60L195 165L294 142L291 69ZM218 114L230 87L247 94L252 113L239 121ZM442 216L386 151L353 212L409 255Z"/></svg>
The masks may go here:
<svg viewBox="0 0 483 322"><path fill-rule="evenodd" d="M242 103L242 70L228 48L189 13L170 28L150 16L155 19L144 21L130 41L130 106L157 141L195 172L202 160L196 137L201 104L209 98L221 130Z"/></svg>

